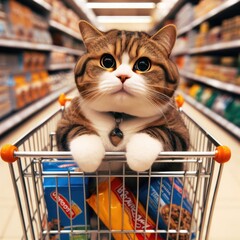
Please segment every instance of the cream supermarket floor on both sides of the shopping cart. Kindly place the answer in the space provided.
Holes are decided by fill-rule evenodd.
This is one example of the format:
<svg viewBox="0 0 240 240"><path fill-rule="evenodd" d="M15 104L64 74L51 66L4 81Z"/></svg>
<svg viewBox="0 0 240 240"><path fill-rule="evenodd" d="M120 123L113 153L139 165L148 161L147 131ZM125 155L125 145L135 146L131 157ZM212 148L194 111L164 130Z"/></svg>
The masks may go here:
<svg viewBox="0 0 240 240"><path fill-rule="evenodd" d="M0 140L0 146L12 143L29 131L37 122L44 119L58 108L54 103L25 121L21 126L14 129ZM195 119L204 129L218 139L222 144L232 150L230 162L224 166L218 198L213 215L210 230L210 240L237 240L240 239L239 214L240 214L240 174L239 174L239 141L214 124L211 120L200 114L187 103L183 109L188 115ZM21 226L18 209L12 188L8 165L0 161L0 239L20 239ZM4 190L3 190L4 189Z"/></svg>

